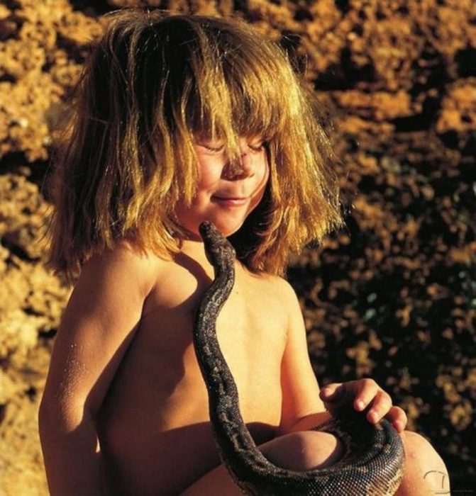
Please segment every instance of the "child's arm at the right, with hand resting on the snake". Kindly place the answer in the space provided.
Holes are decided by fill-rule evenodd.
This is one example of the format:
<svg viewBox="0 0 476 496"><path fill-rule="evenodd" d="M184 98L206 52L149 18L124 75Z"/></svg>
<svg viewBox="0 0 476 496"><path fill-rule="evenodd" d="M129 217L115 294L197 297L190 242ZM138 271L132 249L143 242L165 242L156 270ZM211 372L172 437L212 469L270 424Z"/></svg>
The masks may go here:
<svg viewBox="0 0 476 496"><path fill-rule="evenodd" d="M287 344L282 358L282 434L315 427L340 409L366 410L369 422L385 417L397 431L406 425L406 415L392 406L392 399L370 378L329 384L319 390L306 343L304 320L299 302L289 284L284 283L289 308ZM328 411L326 411L328 410Z"/></svg>

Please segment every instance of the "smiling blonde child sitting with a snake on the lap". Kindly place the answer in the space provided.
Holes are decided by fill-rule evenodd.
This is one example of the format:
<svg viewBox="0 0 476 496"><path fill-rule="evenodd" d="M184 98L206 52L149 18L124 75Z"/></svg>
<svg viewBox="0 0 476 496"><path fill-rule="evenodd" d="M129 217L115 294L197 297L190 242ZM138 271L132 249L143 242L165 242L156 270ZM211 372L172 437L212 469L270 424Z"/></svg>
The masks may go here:
<svg viewBox="0 0 476 496"><path fill-rule="evenodd" d="M52 265L76 280L40 407L51 494L239 494L192 346L213 277L204 220L238 254L217 332L265 455L328 466L341 446L308 429L326 408L365 410L402 434L399 494L430 491L441 458L403 432L404 412L374 381L319 392L279 277L291 252L341 222L316 103L284 53L241 21L120 11L78 88L50 226Z"/></svg>

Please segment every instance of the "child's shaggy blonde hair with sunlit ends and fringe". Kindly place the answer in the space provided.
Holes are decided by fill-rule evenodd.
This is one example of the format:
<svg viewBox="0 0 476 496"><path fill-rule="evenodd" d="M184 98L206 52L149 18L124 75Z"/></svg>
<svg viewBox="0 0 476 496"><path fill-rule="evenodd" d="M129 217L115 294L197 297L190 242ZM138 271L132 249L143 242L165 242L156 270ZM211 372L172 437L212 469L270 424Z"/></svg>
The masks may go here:
<svg viewBox="0 0 476 496"><path fill-rule="evenodd" d="M270 180L230 237L251 271L284 272L289 254L341 224L335 158L316 98L285 53L243 21L108 15L84 65L57 154L50 264L74 278L95 252L129 239L170 258L184 233L177 202L197 184L194 135L262 136Z"/></svg>

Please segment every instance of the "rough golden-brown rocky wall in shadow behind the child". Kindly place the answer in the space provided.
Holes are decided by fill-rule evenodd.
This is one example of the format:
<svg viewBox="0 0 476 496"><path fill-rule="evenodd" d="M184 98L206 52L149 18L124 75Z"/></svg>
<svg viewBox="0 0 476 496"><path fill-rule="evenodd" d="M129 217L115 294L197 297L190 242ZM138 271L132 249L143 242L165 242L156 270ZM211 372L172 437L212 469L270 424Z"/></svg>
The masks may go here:
<svg viewBox="0 0 476 496"><path fill-rule="evenodd" d="M46 495L36 415L69 289L44 267L62 101L110 0L0 1L0 494ZM475 494L476 2L150 0L237 13L335 125L346 228L289 269L321 383L372 376Z"/></svg>

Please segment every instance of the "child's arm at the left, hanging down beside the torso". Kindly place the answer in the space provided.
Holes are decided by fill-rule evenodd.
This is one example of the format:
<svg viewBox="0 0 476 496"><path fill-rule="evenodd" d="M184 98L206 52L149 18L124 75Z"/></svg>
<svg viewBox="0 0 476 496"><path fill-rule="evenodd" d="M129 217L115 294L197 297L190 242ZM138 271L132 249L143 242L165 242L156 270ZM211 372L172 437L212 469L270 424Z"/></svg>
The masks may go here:
<svg viewBox="0 0 476 496"><path fill-rule="evenodd" d="M50 494L101 494L95 416L133 339L150 267L125 246L82 270L62 317L40 405Z"/></svg>

